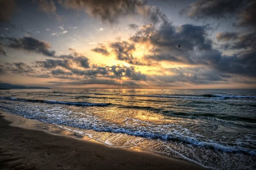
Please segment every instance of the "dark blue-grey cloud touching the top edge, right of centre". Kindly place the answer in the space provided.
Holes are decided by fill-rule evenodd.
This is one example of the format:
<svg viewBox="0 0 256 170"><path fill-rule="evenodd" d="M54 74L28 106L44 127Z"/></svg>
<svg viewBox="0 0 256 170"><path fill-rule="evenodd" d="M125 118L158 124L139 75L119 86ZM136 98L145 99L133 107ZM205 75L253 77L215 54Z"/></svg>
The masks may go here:
<svg viewBox="0 0 256 170"><path fill-rule="evenodd" d="M198 0L184 8L180 13L190 18L212 17L221 19L236 14L247 0Z"/></svg>

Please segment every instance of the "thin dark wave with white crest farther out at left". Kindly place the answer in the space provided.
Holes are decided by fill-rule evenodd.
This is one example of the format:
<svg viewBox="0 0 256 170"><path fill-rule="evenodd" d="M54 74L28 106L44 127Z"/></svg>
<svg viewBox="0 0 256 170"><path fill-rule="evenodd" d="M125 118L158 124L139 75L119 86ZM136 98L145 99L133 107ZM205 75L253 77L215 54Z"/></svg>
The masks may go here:
<svg viewBox="0 0 256 170"><path fill-rule="evenodd" d="M0 97L0 99L12 100L12 101L20 101L20 102L41 102L48 104L59 104L59 105L76 105L76 106L107 106L111 105L111 103L90 103L90 102L62 102L55 100L38 100L38 99L18 99L14 97Z"/></svg>

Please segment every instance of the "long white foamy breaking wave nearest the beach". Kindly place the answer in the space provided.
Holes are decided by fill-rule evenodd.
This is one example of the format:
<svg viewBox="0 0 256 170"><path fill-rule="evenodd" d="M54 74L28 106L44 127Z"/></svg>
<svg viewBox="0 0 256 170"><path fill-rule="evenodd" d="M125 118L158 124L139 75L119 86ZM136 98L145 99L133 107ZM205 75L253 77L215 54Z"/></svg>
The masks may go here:
<svg viewBox="0 0 256 170"><path fill-rule="evenodd" d="M198 147L206 147L213 150L219 150L222 152L244 153L256 156L255 149L241 147L234 144L222 144L217 141L205 139L204 136L192 133L190 130L182 127L181 125L155 125L150 122L132 118L125 119L127 124L119 125L104 120L99 120L96 116L88 114L80 117L76 116L74 113L66 112L63 114L62 112L55 112L54 110L52 110L51 113L45 114L44 112L40 111L39 113L35 113L30 110L20 112L19 108L17 108L17 111L14 111L13 109L14 108L11 108L11 112L14 112L15 114L24 116L29 119L37 119L45 123L55 123L59 125L78 127L81 129L91 129L98 132L124 133L127 135L144 137L147 139L160 139L166 142L181 142L192 144Z"/></svg>

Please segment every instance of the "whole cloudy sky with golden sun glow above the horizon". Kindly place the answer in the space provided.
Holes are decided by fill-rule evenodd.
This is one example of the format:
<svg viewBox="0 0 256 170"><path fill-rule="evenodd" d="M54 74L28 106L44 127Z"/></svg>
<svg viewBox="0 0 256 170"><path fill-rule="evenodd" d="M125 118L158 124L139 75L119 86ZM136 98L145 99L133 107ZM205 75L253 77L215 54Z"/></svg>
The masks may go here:
<svg viewBox="0 0 256 170"><path fill-rule="evenodd" d="M0 0L0 82L256 88L255 9L255 0Z"/></svg>

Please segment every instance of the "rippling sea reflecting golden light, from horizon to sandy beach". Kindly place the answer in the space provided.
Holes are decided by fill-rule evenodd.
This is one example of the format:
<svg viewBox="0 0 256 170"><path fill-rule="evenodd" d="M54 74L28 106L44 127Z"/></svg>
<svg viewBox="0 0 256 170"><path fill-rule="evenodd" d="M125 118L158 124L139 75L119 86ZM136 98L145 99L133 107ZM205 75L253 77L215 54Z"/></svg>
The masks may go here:
<svg viewBox="0 0 256 170"><path fill-rule="evenodd" d="M256 89L1 90L0 109L111 147L256 169Z"/></svg>

